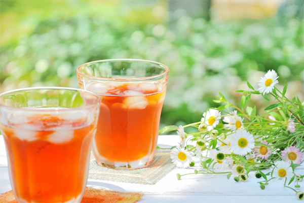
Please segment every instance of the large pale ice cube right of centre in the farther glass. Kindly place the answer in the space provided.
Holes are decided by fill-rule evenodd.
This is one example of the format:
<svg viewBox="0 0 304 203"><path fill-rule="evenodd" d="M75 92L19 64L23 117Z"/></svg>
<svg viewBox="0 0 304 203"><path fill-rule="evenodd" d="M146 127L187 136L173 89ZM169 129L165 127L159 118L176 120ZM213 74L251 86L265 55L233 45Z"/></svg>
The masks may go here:
<svg viewBox="0 0 304 203"><path fill-rule="evenodd" d="M131 109L144 109L148 105L148 99L141 92L127 90L124 91L127 97L124 99L123 104Z"/></svg>

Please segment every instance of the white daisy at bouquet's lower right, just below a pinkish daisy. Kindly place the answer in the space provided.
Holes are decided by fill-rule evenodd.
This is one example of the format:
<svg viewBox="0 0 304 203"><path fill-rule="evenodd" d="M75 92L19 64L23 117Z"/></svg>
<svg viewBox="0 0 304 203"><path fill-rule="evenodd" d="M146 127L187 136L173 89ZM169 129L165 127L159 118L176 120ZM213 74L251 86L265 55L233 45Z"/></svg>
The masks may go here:
<svg viewBox="0 0 304 203"><path fill-rule="evenodd" d="M275 179L287 179L289 181L293 177L292 168L290 167L290 164L285 161L276 161L275 166L273 166L273 176L272 178Z"/></svg>

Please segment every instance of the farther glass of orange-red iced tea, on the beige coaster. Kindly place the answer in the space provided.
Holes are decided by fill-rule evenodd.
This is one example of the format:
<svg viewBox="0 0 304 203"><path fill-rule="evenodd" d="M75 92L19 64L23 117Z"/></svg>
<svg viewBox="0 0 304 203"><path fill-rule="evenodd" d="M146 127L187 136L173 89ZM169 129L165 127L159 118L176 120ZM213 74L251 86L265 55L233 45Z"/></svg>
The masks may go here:
<svg viewBox="0 0 304 203"><path fill-rule="evenodd" d="M78 67L79 86L101 96L93 140L99 165L144 167L153 160L169 68L137 59L110 59Z"/></svg>

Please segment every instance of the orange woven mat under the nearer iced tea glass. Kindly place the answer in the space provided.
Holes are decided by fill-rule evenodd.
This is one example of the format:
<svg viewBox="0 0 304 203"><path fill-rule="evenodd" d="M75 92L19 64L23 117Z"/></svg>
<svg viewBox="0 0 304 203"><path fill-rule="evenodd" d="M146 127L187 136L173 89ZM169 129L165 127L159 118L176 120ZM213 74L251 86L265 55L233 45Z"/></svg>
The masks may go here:
<svg viewBox="0 0 304 203"><path fill-rule="evenodd" d="M86 187L81 203L133 203L142 197L142 193L117 192ZM12 190L0 195L0 203L17 203Z"/></svg>

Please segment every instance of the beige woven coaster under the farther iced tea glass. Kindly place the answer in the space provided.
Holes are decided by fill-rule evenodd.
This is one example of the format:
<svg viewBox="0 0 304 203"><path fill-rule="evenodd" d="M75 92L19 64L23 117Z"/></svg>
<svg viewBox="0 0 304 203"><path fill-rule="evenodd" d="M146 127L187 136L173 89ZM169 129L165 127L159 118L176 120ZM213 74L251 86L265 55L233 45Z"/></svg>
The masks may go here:
<svg viewBox="0 0 304 203"><path fill-rule="evenodd" d="M170 150L157 149L151 164L130 171L115 170L99 166L95 159L90 161L89 179L154 185L174 168Z"/></svg>

